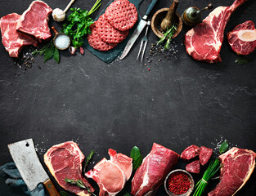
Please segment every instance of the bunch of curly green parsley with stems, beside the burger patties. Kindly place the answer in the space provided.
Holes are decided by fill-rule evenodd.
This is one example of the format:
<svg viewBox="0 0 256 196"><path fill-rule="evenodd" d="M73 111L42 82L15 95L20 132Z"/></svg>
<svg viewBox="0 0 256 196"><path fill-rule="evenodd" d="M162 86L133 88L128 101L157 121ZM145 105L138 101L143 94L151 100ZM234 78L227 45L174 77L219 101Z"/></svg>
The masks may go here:
<svg viewBox="0 0 256 196"><path fill-rule="evenodd" d="M90 11L76 7L70 9L73 12L68 16L68 21L61 31L70 36L74 48L83 46L83 39L91 33L90 25L94 22L90 15L100 6L101 0L97 0Z"/></svg>

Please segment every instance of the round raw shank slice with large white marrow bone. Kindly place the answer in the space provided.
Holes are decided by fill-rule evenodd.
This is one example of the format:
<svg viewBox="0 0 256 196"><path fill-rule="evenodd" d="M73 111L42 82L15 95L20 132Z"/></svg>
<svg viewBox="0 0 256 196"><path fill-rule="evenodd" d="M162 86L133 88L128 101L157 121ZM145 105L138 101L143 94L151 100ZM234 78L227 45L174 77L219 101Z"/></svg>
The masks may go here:
<svg viewBox="0 0 256 196"><path fill-rule="evenodd" d="M247 39L245 37L248 37ZM256 47L256 29L254 22L248 20L237 25L235 29L227 33L227 40L232 50L237 55L249 55Z"/></svg>

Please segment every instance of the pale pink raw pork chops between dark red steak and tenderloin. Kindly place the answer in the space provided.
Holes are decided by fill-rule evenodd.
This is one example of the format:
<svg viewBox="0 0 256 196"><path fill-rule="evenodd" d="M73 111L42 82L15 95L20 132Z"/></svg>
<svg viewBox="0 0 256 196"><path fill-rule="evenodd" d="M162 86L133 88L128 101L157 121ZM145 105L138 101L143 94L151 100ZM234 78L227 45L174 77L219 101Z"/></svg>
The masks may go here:
<svg viewBox="0 0 256 196"><path fill-rule="evenodd" d="M109 154L110 160L103 158L85 174L99 185L99 196L115 196L132 175L132 158L117 154L114 149L109 149Z"/></svg>

